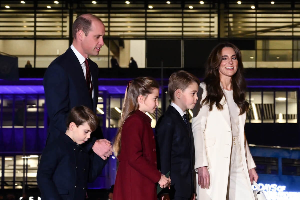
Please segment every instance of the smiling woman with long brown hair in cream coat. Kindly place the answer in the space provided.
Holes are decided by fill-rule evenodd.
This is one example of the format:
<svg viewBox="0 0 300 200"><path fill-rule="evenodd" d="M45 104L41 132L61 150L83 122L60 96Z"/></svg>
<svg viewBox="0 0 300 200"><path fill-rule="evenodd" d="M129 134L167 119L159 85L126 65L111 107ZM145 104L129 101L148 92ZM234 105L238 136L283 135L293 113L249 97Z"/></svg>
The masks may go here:
<svg viewBox="0 0 300 200"><path fill-rule="evenodd" d="M255 200L251 182L258 175L244 136L249 103L242 71L241 52L231 43L220 43L208 57L192 121L199 200Z"/></svg>

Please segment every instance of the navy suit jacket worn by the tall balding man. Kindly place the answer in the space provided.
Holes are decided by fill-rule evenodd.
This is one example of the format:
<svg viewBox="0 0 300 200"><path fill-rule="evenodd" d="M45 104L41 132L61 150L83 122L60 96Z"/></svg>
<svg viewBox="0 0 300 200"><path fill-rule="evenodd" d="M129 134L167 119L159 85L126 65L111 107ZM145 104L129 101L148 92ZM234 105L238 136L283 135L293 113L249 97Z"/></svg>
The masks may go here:
<svg viewBox="0 0 300 200"><path fill-rule="evenodd" d="M98 66L89 59L94 96L91 100L82 67L71 48L57 57L47 68L44 75L44 90L49 115L49 134L47 143L53 142L66 132L66 120L75 106L86 106L96 113L98 104ZM85 144L90 149L97 139L103 137L99 127Z"/></svg>

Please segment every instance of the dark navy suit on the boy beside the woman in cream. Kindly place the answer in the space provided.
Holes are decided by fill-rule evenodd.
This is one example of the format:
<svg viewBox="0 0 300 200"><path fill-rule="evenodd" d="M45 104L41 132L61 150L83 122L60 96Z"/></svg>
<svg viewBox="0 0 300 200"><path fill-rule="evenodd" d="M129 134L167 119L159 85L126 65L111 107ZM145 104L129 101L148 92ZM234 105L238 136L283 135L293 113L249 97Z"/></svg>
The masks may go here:
<svg viewBox="0 0 300 200"><path fill-rule="evenodd" d="M171 187L168 192L170 198L190 198L195 192L193 185L193 167L195 150L193 134L187 128L182 116L169 106L158 119L155 126L158 168L162 174L170 171ZM190 136L189 136L190 135Z"/></svg>

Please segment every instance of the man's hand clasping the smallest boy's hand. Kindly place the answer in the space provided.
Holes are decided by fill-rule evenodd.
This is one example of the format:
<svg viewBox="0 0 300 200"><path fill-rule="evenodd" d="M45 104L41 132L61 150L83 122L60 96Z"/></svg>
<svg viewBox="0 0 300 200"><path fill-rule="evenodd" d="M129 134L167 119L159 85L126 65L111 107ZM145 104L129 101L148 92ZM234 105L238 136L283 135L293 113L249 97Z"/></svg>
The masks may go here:
<svg viewBox="0 0 300 200"><path fill-rule="evenodd" d="M103 160L106 160L108 157L110 157L110 155L113 154L113 146L107 139L96 140L92 149L95 152L95 154L100 156Z"/></svg>

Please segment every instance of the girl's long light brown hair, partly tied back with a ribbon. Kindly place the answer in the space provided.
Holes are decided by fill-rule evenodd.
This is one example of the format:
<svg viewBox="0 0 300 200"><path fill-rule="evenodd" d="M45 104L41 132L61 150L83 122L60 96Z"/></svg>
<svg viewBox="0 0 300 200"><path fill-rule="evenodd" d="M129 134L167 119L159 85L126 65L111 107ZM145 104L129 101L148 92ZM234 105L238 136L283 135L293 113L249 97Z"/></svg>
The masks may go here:
<svg viewBox="0 0 300 200"><path fill-rule="evenodd" d="M131 81L130 86L128 84L127 94L125 96L124 106L122 108L120 128L113 143L113 150L116 157L121 150L122 127L124 122L129 116L139 109L137 97L140 95L147 96L151 94L155 88L159 89L159 84L151 77L138 77Z"/></svg>

